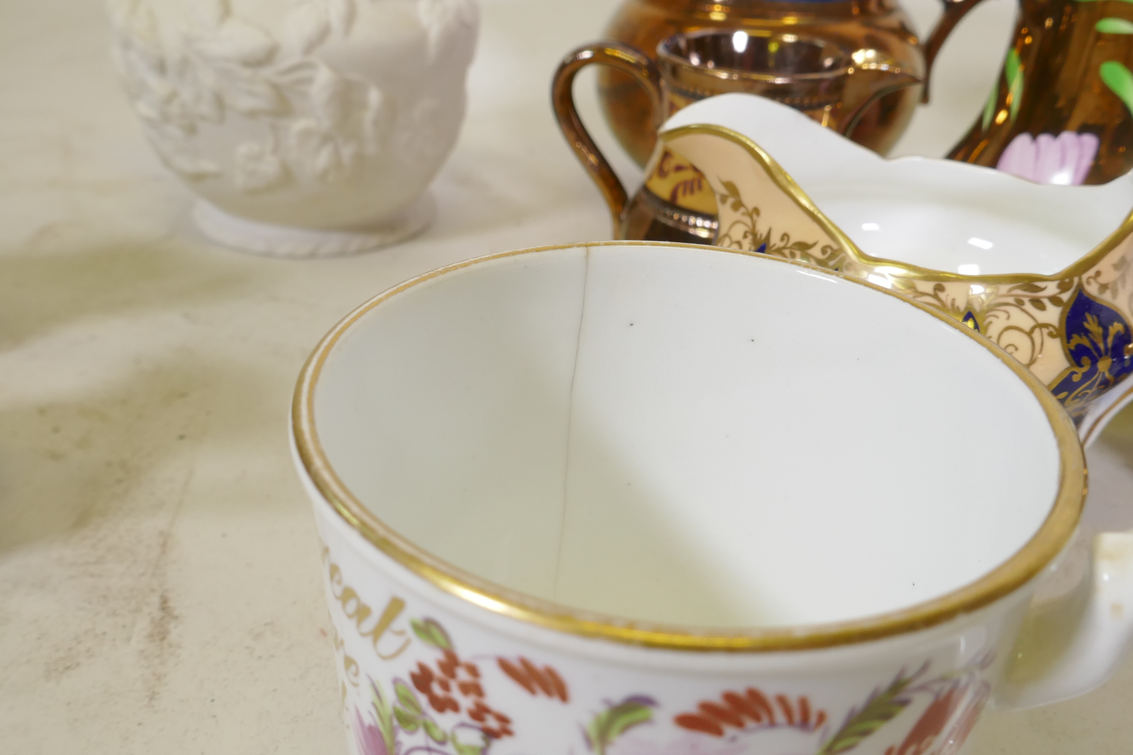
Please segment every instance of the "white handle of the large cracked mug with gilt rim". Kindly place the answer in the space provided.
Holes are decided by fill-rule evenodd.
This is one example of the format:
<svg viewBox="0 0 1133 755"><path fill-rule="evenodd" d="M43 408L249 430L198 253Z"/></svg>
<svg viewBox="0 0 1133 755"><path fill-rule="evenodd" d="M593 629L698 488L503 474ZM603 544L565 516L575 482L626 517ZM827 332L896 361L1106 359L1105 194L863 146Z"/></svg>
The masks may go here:
<svg viewBox="0 0 1133 755"><path fill-rule="evenodd" d="M1019 710L1083 695L1105 684L1131 649L1133 530L1104 532L1093 538L1087 578L1023 619L993 705Z"/></svg>

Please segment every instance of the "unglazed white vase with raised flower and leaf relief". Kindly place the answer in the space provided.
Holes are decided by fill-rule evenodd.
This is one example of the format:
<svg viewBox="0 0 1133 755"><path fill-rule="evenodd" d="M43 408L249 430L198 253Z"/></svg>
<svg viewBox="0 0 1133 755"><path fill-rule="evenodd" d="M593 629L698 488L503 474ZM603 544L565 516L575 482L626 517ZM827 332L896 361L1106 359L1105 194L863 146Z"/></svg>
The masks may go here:
<svg viewBox="0 0 1133 755"><path fill-rule="evenodd" d="M145 134L212 240L350 254L432 217L478 27L474 0L111 0Z"/></svg>

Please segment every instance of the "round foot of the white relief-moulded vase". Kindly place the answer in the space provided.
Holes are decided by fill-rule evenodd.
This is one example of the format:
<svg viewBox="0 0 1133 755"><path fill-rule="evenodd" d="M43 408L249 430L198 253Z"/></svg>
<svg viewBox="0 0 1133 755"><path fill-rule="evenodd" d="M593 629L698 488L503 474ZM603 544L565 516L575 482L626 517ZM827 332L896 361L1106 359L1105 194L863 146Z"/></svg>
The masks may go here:
<svg viewBox="0 0 1133 755"><path fill-rule="evenodd" d="M230 215L206 201L197 201L193 218L211 241L238 251L269 257L335 257L403 241L424 230L435 209L433 197L426 194L398 217L364 231L316 231L259 223Z"/></svg>

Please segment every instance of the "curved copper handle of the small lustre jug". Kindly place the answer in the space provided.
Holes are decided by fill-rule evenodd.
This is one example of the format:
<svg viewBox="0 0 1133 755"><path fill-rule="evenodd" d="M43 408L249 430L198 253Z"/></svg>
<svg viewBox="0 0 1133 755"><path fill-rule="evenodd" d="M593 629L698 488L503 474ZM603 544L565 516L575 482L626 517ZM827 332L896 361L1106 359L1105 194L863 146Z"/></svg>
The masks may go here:
<svg viewBox="0 0 1133 755"><path fill-rule="evenodd" d="M616 235L617 226L622 220L622 211L625 209L628 199L625 187L617 180L617 175L610 168L602 151L594 144L590 132L586 130L574 108L574 76L590 63L616 68L636 78L645 87L649 95L649 104L653 105L654 128L659 127L664 119L661 72L657 70L656 63L629 45L617 42L598 42L583 45L569 53L559 63L559 69L555 70L555 75L551 79L551 105L554 108L559 128L562 129L566 143L574 151L582 168L598 185L598 190L605 197L606 204L610 206L610 214L614 218L614 234Z"/></svg>

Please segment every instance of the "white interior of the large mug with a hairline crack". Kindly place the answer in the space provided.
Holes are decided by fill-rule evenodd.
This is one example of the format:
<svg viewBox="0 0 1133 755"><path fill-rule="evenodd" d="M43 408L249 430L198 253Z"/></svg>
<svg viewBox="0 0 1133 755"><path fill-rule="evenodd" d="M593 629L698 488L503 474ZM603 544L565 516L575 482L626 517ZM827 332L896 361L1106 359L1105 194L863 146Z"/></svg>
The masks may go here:
<svg viewBox="0 0 1133 755"><path fill-rule="evenodd" d="M695 247L526 252L370 307L318 443L420 549L568 607L811 625L966 585L1058 492L1005 361L893 295Z"/></svg>

